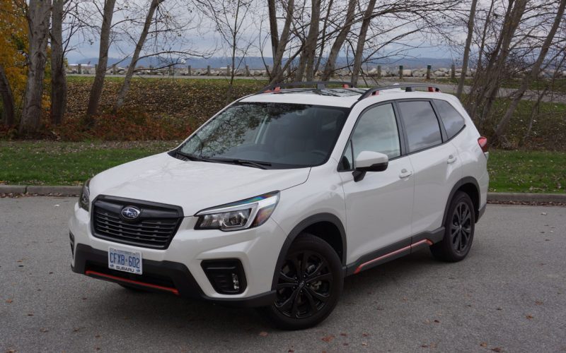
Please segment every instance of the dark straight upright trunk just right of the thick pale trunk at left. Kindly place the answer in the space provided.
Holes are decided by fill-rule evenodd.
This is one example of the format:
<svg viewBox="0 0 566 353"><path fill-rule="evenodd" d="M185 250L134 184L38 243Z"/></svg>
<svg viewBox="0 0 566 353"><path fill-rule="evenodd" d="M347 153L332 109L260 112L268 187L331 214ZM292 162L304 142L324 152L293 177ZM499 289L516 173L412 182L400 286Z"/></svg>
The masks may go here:
<svg viewBox="0 0 566 353"><path fill-rule="evenodd" d="M64 0L53 0L51 25L51 123L61 124L67 107L67 78L63 53Z"/></svg>

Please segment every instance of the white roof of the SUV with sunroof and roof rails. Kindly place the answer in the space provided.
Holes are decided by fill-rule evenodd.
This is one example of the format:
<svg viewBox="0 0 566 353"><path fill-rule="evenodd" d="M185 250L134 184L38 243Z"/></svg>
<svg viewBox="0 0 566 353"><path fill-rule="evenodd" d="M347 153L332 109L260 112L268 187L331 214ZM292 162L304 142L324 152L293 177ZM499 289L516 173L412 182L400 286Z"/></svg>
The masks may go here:
<svg viewBox="0 0 566 353"><path fill-rule="evenodd" d="M390 87L390 86L389 86ZM376 91L376 95L369 95L364 99L383 98L381 100L393 100L403 98L444 98L454 100L452 95L441 92L412 91L405 92L402 88L389 88ZM352 107L368 89L362 88L289 88L262 92L244 97L240 102L269 102L289 104L315 104L330 107Z"/></svg>

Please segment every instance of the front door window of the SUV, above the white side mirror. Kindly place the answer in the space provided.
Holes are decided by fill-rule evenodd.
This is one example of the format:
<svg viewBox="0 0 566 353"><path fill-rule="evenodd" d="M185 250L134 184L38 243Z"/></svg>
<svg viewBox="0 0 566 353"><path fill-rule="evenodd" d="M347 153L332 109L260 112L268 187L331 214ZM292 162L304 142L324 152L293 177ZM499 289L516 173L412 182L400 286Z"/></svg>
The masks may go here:
<svg viewBox="0 0 566 353"><path fill-rule="evenodd" d="M355 167L353 159L362 151L381 152L389 159L401 155L397 121L391 103L371 107L360 116L342 157L342 169Z"/></svg>

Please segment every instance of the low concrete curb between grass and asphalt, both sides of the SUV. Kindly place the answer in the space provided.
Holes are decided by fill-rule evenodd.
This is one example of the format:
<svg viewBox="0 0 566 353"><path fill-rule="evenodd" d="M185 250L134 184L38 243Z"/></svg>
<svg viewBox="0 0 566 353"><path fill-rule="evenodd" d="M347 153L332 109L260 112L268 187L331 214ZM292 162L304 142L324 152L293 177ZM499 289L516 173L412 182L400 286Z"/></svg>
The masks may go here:
<svg viewBox="0 0 566 353"><path fill-rule="evenodd" d="M79 193L81 193L81 186L0 185L0 193L16 193L37 196L79 196ZM566 193L487 193L487 201L566 203Z"/></svg>

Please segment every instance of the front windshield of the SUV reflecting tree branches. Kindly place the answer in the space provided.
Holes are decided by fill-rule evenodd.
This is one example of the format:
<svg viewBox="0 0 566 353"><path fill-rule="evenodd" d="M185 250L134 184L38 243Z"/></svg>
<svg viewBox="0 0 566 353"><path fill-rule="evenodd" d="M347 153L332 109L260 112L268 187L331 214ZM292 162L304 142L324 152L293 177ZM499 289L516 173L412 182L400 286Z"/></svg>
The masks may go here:
<svg viewBox="0 0 566 353"><path fill-rule="evenodd" d="M177 152L193 160L249 167L313 167L328 160L348 112L308 104L237 103L202 126Z"/></svg>

